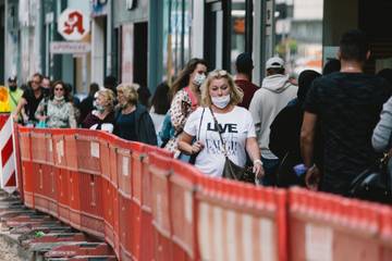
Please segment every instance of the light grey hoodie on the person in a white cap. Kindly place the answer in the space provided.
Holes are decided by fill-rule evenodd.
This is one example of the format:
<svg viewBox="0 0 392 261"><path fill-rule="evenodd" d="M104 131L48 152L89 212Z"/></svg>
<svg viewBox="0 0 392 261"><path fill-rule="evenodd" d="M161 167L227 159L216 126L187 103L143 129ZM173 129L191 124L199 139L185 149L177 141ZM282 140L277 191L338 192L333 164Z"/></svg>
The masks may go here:
<svg viewBox="0 0 392 261"><path fill-rule="evenodd" d="M262 80L252 99L249 111L255 122L261 157L278 159L268 148L270 125L278 113L296 97L298 88L289 82L289 76L275 74Z"/></svg>

